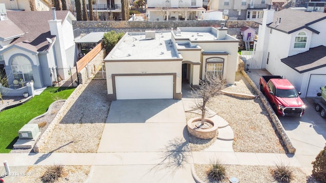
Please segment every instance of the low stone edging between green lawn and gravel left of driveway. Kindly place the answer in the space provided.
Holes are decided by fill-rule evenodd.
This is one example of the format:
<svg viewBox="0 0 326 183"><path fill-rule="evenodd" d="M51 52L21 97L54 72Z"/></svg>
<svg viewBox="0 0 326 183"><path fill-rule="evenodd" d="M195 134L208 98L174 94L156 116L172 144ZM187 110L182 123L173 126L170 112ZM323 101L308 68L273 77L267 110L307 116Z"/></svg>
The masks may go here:
<svg viewBox="0 0 326 183"><path fill-rule="evenodd" d="M86 86L85 84L79 84L73 93L68 97L68 99L65 100L65 103L62 105L55 118L51 121L47 129L43 132L42 136L33 147L35 153L40 153L42 146L47 142L48 138L53 132L53 129L55 129L56 125L59 124L61 119L67 114L71 106L78 99L79 95L82 94Z"/></svg>

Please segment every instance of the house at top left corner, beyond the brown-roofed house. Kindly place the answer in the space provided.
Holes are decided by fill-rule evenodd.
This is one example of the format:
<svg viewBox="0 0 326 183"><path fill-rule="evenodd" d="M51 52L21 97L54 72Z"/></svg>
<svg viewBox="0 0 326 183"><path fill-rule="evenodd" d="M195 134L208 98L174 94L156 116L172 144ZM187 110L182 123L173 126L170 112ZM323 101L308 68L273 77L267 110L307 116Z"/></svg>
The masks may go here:
<svg viewBox="0 0 326 183"><path fill-rule="evenodd" d="M19 11L49 11L51 10L50 0L0 0L0 4L5 4L8 10ZM31 10L34 7L34 10Z"/></svg>

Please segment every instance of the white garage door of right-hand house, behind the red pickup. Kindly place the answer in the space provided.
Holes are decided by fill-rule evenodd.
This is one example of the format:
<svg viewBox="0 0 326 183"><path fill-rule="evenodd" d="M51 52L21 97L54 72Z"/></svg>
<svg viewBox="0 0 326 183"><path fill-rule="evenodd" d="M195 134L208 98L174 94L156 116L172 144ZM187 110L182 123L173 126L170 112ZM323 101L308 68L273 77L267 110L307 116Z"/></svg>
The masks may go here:
<svg viewBox="0 0 326 183"><path fill-rule="evenodd" d="M317 93L320 93L320 87L324 86L325 84L326 84L326 74L310 75L306 97L317 97Z"/></svg>

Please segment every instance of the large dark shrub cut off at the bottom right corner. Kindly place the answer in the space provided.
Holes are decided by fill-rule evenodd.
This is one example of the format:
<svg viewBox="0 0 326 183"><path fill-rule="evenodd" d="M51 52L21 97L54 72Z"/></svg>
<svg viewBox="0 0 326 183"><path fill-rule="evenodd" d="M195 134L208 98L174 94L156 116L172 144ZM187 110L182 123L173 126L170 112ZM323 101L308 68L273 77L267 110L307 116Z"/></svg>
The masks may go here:
<svg viewBox="0 0 326 183"><path fill-rule="evenodd" d="M326 144L311 164L313 165L312 175L314 178L320 182L326 182Z"/></svg>

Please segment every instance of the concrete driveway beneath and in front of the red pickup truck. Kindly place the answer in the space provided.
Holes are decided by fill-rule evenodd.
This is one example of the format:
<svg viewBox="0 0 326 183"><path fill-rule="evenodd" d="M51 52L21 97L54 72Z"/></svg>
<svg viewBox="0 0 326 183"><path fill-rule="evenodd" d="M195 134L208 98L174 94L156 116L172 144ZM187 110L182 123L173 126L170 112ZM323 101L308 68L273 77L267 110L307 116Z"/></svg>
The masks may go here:
<svg viewBox="0 0 326 183"><path fill-rule="evenodd" d="M250 69L249 77L259 86L261 75L270 75L266 70ZM282 117L279 119L296 148L295 157L304 167L311 167L311 162L326 143L326 119L315 111L313 98L302 98L306 111L302 117Z"/></svg>

